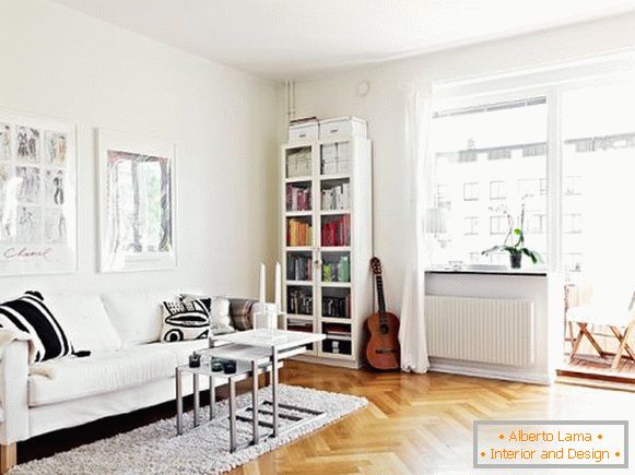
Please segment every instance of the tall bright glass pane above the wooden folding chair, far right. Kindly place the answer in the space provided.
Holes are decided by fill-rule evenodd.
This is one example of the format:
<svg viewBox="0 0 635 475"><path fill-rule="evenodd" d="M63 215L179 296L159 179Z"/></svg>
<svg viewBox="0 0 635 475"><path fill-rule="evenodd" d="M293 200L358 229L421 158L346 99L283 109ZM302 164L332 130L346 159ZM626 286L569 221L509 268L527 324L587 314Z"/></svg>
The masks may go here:
<svg viewBox="0 0 635 475"><path fill-rule="evenodd" d="M635 256L620 241L635 233L633 81L565 91L561 114L563 269L592 285L632 283Z"/></svg>

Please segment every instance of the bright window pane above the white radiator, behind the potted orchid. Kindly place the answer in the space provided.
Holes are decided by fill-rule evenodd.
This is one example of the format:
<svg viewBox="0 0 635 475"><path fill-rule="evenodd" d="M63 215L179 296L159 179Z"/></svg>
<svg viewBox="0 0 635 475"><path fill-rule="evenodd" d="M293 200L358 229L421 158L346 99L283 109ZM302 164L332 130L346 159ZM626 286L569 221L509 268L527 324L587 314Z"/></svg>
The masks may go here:
<svg viewBox="0 0 635 475"><path fill-rule="evenodd" d="M537 198L531 203L527 200L527 215L546 215L546 98L466 103L462 108L437 110L430 136L435 185L442 187L437 188L436 205L448 200L452 203L445 215L443 252L437 251L442 237L433 237L438 244L433 264L456 260L508 265L505 253L481 252L503 244L509 230L505 211L517 218L524 198L519 180L527 180L522 183L532 191L527 194ZM462 197L451 195L461 191ZM546 234L532 234L528 246L544 250Z"/></svg>

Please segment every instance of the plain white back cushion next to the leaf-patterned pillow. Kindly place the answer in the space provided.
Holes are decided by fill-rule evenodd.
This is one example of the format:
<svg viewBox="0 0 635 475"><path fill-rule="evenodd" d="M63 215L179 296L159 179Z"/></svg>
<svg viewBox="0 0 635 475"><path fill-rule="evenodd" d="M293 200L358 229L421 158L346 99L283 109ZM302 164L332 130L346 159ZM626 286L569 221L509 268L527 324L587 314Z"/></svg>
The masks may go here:
<svg viewBox="0 0 635 475"><path fill-rule="evenodd" d="M125 292L103 295L106 311L125 346L157 342L163 326L163 301L175 300L174 290Z"/></svg>

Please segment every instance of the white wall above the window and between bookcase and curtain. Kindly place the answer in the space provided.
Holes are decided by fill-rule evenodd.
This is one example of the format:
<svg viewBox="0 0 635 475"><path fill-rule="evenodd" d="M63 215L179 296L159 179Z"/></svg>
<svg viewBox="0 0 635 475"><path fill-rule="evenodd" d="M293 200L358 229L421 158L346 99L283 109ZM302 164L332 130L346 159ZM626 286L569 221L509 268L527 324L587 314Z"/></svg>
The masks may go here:
<svg viewBox="0 0 635 475"><path fill-rule="evenodd" d="M374 245L384 263L391 309L401 307L402 277L411 259L402 251L410 233L403 85L543 66L633 44L635 14L630 14L297 82L296 117L356 116L368 121L374 146ZM371 83L366 97L355 94L362 81Z"/></svg>

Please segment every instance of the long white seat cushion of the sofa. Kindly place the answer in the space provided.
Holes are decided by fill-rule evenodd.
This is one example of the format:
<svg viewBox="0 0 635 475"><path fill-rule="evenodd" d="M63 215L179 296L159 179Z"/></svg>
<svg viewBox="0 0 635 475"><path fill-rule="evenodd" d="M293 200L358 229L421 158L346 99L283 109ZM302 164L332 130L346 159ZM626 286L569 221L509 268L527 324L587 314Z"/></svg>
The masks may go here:
<svg viewBox="0 0 635 475"><path fill-rule="evenodd" d="M175 353L161 345L46 361L36 365L37 375L32 370L28 377L28 404L55 404L169 378L176 361Z"/></svg>

